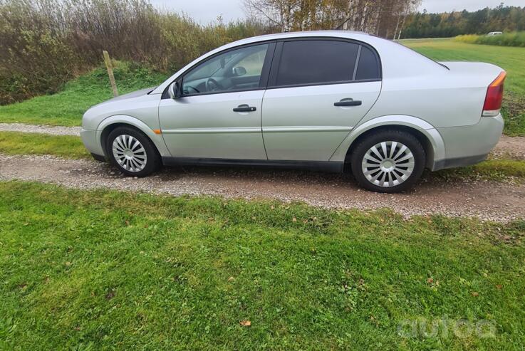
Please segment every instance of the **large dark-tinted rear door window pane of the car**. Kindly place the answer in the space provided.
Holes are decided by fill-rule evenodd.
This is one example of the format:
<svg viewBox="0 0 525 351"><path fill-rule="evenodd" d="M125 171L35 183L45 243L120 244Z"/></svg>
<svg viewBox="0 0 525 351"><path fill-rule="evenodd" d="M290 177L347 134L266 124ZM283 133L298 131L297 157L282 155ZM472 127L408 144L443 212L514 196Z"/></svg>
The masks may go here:
<svg viewBox="0 0 525 351"><path fill-rule="evenodd" d="M359 45L348 41L283 43L276 85L308 85L352 80Z"/></svg>

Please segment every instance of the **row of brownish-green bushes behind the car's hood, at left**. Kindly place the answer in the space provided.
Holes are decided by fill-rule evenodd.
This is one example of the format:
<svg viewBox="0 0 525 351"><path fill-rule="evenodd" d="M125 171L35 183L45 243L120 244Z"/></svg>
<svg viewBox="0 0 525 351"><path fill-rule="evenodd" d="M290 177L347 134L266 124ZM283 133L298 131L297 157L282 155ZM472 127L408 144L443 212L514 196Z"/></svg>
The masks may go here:
<svg viewBox="0 0 525 351"><path fill-rule="evenodd" d="M167 72L263 32L253 21L201 26L145 0L0 0L0 104L56 92L103 50Z"/></svg>

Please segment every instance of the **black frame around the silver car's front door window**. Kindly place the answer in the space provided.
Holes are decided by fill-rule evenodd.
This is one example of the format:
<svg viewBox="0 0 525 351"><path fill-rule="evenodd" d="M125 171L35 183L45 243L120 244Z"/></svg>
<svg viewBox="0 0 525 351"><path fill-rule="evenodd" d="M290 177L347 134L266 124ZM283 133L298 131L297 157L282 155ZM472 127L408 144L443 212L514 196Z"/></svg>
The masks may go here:
<svg viewBox="0 0 525 351"><path fill-rule="evenodd" d="M188 95L181 95L181 98L189 98L192 96L203 96L203 95L215 95L215 94L228 94L228 93L241 93L245 91L256 91L256 90L266 90L266 87L268 85L268 78L270 74L271 69L271 63L274 60L274 53L275 53L275 47L276 47L276 41L258 41L256 43L249 43L245 45L239 45L235 46L234 48L228 48L223 51L219 51L218 53L215 53L212 56L209 56L207 58L204 58L204 60L199 61L195 63L192 67L188 68L184 73L182 73L177 79L173 80L173 82L177 81L180 84L180 87L182 89L182 82L186 75L188 75L194 68L197 68L198 66L202 65L203 63L206 63L209 60L212 60L213 58L216 58L217 56L220 56L224 53L229 53L230 51L236 51L241 48L249 48L251 46L261 46L261 45L268 45L268 49L266 50L266 56L264 57L263 61L263 67L261 70L261 78L259 80L259 87L257 88L251 88L251 89L239 89L239 90L225 90L225 91L216 91L216 92L204 92L204 93L192 93ZM167 94L167 89L170 87L170 85L173 83L171 82L167 88L162 93L162 99L169 99L170 96Z"/></svg>

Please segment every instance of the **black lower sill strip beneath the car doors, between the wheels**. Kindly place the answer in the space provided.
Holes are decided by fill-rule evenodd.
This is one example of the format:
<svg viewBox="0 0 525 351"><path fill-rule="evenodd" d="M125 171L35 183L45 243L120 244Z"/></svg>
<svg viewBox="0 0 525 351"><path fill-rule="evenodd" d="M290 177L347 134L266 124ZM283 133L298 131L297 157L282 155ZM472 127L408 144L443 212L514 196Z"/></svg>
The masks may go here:
<svg viewBox="0 0 525 351"><path fill-rule="evenodd" d="M344 162L281 161L275 159L207 159L199 157L162 157L165 166L235 166L307 169L318 172L342 173Z"/></svg>

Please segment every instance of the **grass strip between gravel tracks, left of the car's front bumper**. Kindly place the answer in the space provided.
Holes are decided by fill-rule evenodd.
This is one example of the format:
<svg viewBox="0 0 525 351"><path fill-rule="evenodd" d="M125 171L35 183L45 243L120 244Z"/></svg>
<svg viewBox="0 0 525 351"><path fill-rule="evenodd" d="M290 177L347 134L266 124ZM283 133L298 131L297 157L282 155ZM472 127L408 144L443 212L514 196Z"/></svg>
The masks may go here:
<svg viewBox="0 0 525 351"><path fill-rule="evenodd" d="M38 133L0 132L3 154L52 154L70 159L90 158L80 137Z"/></svg>

